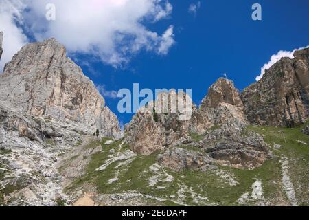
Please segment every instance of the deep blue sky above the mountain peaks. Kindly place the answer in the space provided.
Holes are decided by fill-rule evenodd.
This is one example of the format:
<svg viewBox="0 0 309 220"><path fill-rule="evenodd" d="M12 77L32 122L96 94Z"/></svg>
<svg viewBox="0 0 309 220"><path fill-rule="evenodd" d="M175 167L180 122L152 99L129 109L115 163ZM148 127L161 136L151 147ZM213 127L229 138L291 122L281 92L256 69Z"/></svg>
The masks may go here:
<svg viewBox="0 0 309 220"><path fill-rule="evenodd" d="M163 0L160 2L163 3ZM144 29L157 34L163 34L172 25L173 34L169 40L172 39L174 44L168 47L166 54L155 52L163 41L159 35L147 44L147 47L154 44L153 48L145 50L144 45L144 49L131 54L122 67L111 65L106 60L106 53L104 58L98 58L94 52L79 53L74 48L75 53L69 54L95 85L104 85L106 104L123 124L130 122L133 114L118 113L119 99L110 96L113 94L111 91L122 88L132 90L133 83L139 83L141 89L188 88L192 89L194 102L200 104L209 86L224 72L242 90L255 82L261 67L270 61L271 56L280 50L291 52L309 45L308 0L201 0L196 14L188 12L188 9L192 3L198 5L198 1L170 0L168 3L172 5L172 10L168 7L161 10L165 12L163 19L156 22L135 20ZM262 21L251 19L253 3L262 5ZM29 41L39 40L40 33L36 31L33 34L30 30L29 25L23 26L23 33ZM87 36L90 33L82 34ZM44 36L49 35L52 36L47 32ZM72 48L70 41L62 38L65 35L64 31L56 38Z"/></svg>

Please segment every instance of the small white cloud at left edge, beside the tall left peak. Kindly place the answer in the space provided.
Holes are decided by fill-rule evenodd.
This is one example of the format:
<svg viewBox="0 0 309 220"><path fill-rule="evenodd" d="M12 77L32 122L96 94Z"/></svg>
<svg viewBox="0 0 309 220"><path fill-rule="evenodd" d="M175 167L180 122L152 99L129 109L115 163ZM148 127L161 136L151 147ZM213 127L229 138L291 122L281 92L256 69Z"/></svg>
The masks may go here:
<svg viewBox="0 0 309 220"><path fill-rule="evenodd" d="M8 63L12 59L12 56L27 43L27 37L23 34L23 31L17 27L17 23L21 21L20 12L24 8L25 5L21 3L21 1L0 1L0 31L4 33L0 73L5 63Z"/></svg>

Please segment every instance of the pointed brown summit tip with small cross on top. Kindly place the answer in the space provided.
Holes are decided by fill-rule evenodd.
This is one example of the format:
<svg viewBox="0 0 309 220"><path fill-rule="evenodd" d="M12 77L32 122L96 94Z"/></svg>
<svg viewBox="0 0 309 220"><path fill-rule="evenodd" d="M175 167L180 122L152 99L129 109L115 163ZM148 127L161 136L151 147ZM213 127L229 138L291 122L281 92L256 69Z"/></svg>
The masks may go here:
<svg viewBox="0 0 309 220"><path fill-rule="evenodd" d="M201 103L201 109L216 108L220 103L227 103L236 107L243 105L238 89L227 78L219 78L216 83L211 85L208 95Z"/></svg>

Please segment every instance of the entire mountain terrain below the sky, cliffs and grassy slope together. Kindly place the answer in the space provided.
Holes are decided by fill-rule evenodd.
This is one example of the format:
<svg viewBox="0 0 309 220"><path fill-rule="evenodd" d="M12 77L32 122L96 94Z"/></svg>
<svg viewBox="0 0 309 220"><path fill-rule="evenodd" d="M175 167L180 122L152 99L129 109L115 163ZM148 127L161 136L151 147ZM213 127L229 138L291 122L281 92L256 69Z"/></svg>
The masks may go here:
<svg viewBox="0 0 309 220"><path fill-rule="evenodd" d="M117 139L118 121L65 54L54 39L26 45L0 76L0 206L84 205L84 198L95 206L308 203L308 124L248 126L308 119L308 49L282 58L242 94L219 78L199 108L186 109L187 94L159 94L119 140L92 136L98 128ZM276 159L264 163L271 151Z"/></svg>

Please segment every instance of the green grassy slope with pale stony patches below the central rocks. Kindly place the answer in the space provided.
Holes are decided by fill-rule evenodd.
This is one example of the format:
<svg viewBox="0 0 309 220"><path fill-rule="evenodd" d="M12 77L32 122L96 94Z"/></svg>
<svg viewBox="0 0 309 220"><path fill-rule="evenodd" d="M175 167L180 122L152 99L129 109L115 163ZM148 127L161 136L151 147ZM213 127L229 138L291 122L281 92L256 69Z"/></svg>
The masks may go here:
<svg viewBox="0 0 309 220"><path fill-rule="evenodd" d="M280 144L280 150L273 149L274 159L265 162L255 170L240 170L227 166L220 166L220 170L233 175L238 181L238 185L230 186L227 182L222 181L220 176L216 175L217 170L201 173L198 171L184 170L182 173L174 173L172 170L161 169L161 180L159 178L155 186L150 186L148 179L158 175L150 170L150 166L155 164L157 154L142 156L137 155L133 162L126 166L120 166L119 162L114 162L106 168L106 170L97 172L96 168L104 164L109 159L111 148L117 151L125 151L128 146L122 146L119 149L119 142L111 145L104 145L106 140L100 142L103 151L92 156L92 161L87 168L87 174L77 179L71 188L81 186L84 183L94 184L98 188L98 192L104 194L122 193L130 190L141 192L144 195L152 195L165 199L161 205L211 205L233 206L238 205L237 199L245 192L251 194L252 184L259 179L262 181L264 203L266 205L288 205L289 201L282 187L282 170L279 159L287 157L290 163L290 178L295 186L295 192L299 200L299 205L309 204L308 180L309 180L309 146L297 142L309 143L309 136L301 133L301 128L295 129L277 129L270 127L249 126L251 129L264 135L266 142ZM196 138L198 141L200 138ZM98 146L98 143L92 144ZM91 146L90 146L91 147ZM174 181L163 181L166 175L172 175ZM165 176L164 176L165 175ZM108 184L109 179L117 177L118 181ZM160 187L158 187L160 186ZM184 188L183 194L179 195L179 190ZM209 201L194 201L194 198L201 196L207 197ZM249 202L248 205L259 204L259 201Z"/></svg>

